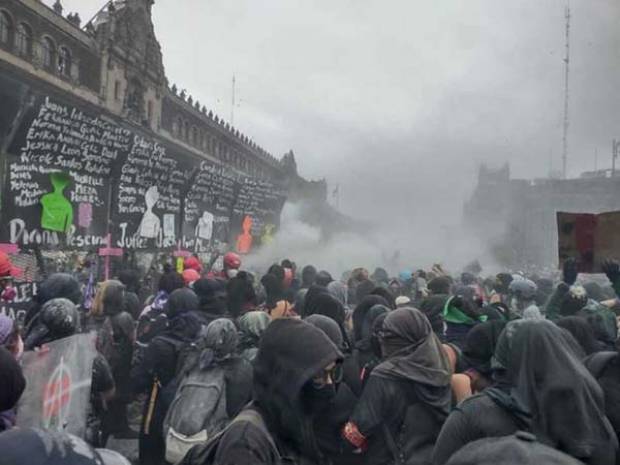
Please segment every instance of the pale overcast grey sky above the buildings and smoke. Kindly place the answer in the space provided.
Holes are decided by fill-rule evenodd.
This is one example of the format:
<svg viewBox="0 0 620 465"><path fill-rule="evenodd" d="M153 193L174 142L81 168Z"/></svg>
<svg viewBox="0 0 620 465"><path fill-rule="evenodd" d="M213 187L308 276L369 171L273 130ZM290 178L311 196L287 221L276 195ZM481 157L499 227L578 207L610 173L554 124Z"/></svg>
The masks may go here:
<svg viewBox="0 0 620 465"><path fill-rule="evenodd" d="M63 0L84 19L103 3ZM170 82L229 119L234 73L235 126L274 155L292 148L304 176L340 183L346 211L456 215L482 161L510 161L517 177L560 168L565 4L157 0L153 11ZM620 2L571 8L577 175L596 148L609 166L620 137Z"/></svg>

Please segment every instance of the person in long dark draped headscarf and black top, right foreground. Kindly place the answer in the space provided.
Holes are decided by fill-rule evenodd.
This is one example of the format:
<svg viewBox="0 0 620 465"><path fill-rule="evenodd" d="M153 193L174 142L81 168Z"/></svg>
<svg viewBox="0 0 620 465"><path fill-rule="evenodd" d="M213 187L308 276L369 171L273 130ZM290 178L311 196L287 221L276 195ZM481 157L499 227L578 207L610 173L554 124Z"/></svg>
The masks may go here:
<svg viewBox="0 0 620 465"><path fill-rule="evenodd" d="M466 444L525 430L588 465L613 465L618 441L605 417L603 392L581 362L583 351L546 320L510 323L494 356L500 380L454 410L441 430L433 463Z"/></svg>

